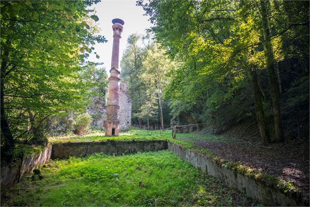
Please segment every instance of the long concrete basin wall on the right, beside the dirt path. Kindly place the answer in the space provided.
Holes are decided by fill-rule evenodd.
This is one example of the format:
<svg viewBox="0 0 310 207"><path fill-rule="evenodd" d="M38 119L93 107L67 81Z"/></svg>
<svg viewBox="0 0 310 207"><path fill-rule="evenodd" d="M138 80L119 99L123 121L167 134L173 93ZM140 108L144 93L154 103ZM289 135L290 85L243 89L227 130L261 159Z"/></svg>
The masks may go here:
<svg viewBox="0 0 310 207"><path fill-rule="evenodd" d="M263 183L257 182L254 179L248 178L246 175L237 173L232 169L228 169L219 165L215 161L183 146L168 143L168 149L175 155L181 157L184 161L189 162L195 167L199 167L207 174L220 179L224 184L246 194L267 206L303 206L305 205L302 199L297 200L289 195L286 195L280 190L272 187L267 187Z"/></svg>

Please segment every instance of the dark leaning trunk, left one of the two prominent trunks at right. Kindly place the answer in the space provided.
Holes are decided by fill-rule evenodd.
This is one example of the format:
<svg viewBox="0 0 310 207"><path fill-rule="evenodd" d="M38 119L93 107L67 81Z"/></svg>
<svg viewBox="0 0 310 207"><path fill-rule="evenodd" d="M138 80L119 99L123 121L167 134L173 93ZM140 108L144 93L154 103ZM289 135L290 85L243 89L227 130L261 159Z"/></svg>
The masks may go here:
<svg viewBox="0 0 310 207"><path fill-rule="evenodd" d="M268 126L266 124L265 113L264 113L264 108L263 108L263 103L262 103L261 92L260 92L260 88L258 85L256 70L254 68L253 70L249 68L248 72L251 75L252 84L253 84L255 113L256 113L256 118L257 118L257 123L258 123L259 131L260 131L262 143L263 145L267 145L268 143L270 143L270 136L269 136Z"/></svg>

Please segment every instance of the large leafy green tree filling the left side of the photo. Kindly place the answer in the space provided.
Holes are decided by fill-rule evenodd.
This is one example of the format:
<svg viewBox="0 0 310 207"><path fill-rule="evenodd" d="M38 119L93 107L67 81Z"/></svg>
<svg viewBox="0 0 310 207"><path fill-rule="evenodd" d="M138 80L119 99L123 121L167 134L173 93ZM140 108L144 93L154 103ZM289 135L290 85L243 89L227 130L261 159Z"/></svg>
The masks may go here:
<svg viewBox="0 0 310 207"><path fill-rule="evenodd" d="M90 45L106 41L87 9L97 2L1 1L1 159L47 117L82 107L81 65Z"/></svg>

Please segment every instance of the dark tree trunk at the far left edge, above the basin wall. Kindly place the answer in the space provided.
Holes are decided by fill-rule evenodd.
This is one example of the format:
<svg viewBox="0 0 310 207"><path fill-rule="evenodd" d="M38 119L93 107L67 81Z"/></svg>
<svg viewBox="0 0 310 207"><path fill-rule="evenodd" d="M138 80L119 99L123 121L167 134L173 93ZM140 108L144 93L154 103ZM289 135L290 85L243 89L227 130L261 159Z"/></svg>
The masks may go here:
<svg viewBox="0 0 310 207"><path fill-rule="evenodd" d="M1 124L1 160L10 161L13 155L14 139L6 120L4 109L4 80L6 76L7 58L9 55L8 47L4 47L1 60L1 78L0 78L0 124ZM3 156L3 158L2 158Z"/></svg>

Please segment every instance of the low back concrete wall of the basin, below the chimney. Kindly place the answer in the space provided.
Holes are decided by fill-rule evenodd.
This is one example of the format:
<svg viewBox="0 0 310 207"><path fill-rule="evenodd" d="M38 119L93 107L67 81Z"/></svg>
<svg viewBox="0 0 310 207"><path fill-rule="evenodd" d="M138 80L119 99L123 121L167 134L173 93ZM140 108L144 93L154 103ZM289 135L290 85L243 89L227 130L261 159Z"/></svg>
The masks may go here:
<svg viewBox="0 0 310 207"><path fill-rule="evenodd" d="M64 159L70 156L80 157L96 152L104 154L128 154L135 152L156 151L167 149L166 141L105 141L84 143L54 144L52 159Z"/></svg>

